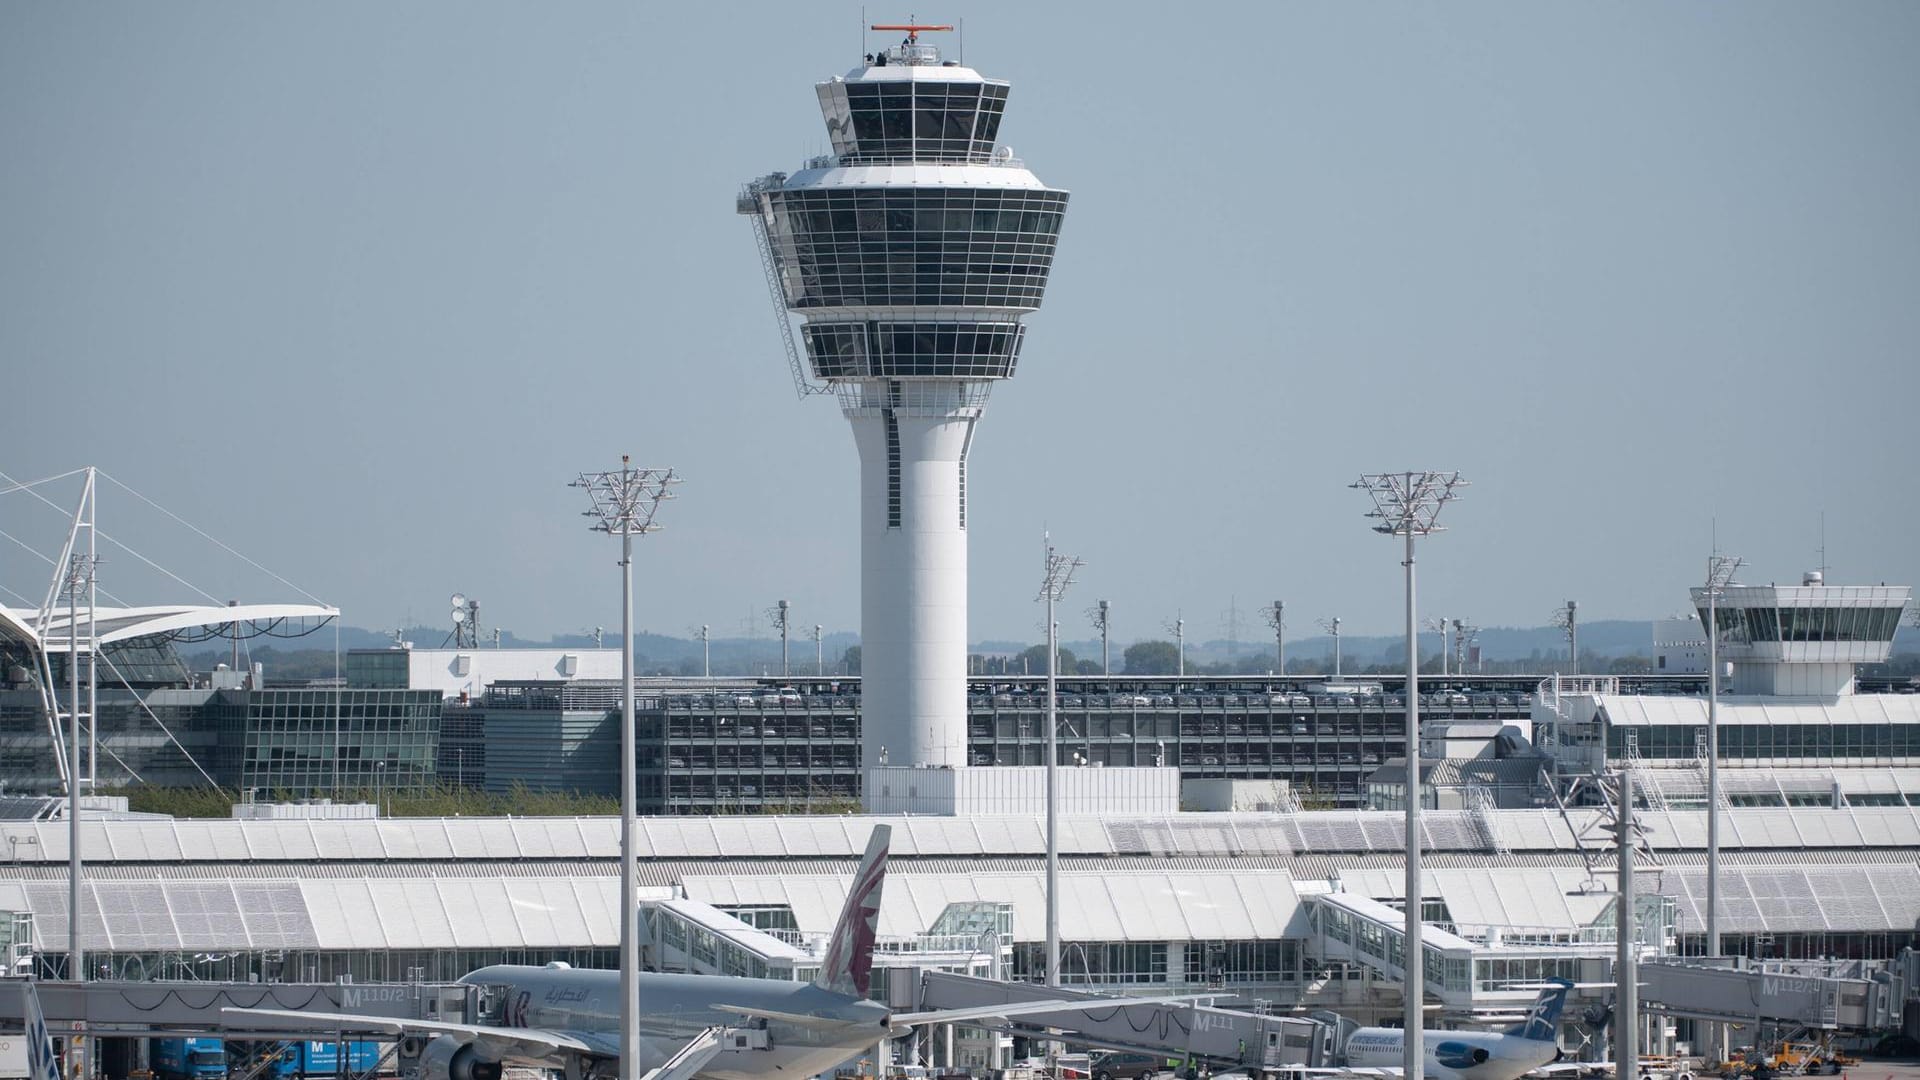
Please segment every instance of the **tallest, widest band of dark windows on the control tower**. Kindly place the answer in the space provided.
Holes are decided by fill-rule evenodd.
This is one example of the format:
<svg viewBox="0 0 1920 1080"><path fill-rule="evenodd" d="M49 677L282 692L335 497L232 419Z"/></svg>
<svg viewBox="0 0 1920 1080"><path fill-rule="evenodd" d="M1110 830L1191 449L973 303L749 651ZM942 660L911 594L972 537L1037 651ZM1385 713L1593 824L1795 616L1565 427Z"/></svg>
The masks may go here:
<svg viewBox="0 0 1920 1080"><path fill-rule="evenodd" d="M801 188L770 194L787 306L1041 306L1066 192Z"/></svg>

